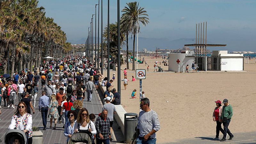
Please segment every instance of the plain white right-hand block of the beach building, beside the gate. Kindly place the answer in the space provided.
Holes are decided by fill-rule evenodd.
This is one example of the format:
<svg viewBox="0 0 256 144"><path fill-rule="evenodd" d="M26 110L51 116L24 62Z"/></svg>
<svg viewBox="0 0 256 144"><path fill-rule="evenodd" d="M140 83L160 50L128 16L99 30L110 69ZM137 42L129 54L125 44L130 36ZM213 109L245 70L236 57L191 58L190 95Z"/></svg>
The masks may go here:
<svg viewBox="0 0 256 144"><path fill-rule="evenodd" d="M221 71L242 71L243 57L221 57ZM225 63L225 65L223 64Z"/></svg>

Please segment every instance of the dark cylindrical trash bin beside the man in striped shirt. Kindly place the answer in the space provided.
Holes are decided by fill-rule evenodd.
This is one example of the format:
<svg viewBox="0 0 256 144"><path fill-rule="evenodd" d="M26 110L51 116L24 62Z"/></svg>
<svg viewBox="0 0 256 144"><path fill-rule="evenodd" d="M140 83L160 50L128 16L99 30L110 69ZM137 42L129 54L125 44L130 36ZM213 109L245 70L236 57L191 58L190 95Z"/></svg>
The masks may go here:
<svg viewBox="0 0 256 144"><path fill-rule="evenodd" d="M136 126L138 124L138 114L124 114L124 143L136 143Z"/></svg>

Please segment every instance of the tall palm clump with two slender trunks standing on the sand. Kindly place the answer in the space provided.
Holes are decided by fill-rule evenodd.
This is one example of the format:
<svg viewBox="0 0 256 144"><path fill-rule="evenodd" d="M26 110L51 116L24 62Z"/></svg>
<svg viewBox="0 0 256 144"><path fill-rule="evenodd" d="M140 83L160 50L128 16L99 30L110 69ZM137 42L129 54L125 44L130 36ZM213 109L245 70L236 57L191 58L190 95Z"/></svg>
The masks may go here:
<svg viewBox="0 0 256 144"><path fill-rule="evenodd" d="M148 19L148 14L146 13L147 11L144 10L144 8L139 8L139 3L137 2L131 2L131 3L126 3L127 6L124 7L122 12L122 25L124 27L125 33L126 33L126 40L128 39L129 33L132 33L133 35L133 61L132 61L132 70L135 70L135 36L137 34L137 21L138 21L138 13L139 13L139 21L142 23L143 26L146 26L149 23ZM140 30L140 25L139 28ZM127 46L127 55L128 55L128 40L126 42ZM127 59L127 57L126 57ZM128 59L127 59L128 60Z"/></svg>

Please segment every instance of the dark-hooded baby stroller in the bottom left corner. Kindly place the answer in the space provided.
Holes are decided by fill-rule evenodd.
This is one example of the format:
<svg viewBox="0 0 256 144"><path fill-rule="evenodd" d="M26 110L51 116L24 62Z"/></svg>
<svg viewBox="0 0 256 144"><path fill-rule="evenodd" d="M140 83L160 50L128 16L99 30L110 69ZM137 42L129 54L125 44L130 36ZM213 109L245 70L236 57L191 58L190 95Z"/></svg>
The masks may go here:
<svg viewBox="0 0 256 144"><path fill-rule="evenodd" d="M21 130L8 130L4 136L4 144L13 144L18 139L20 144L28 144L28 133Z"/></svg>

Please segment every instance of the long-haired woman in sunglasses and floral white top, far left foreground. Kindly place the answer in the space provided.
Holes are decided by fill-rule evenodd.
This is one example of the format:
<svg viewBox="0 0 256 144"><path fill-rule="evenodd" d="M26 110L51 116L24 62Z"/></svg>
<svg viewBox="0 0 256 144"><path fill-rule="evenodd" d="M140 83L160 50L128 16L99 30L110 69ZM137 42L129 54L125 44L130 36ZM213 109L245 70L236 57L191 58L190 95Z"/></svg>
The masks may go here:
<svg viewBox="0 0 256 144"><path fill-rule="evenodd" d="M28 133L28 144L32 144L32 115L27 113L24 102L18 104L17 110L12 116L9 130L18 129Z"/></svg>

